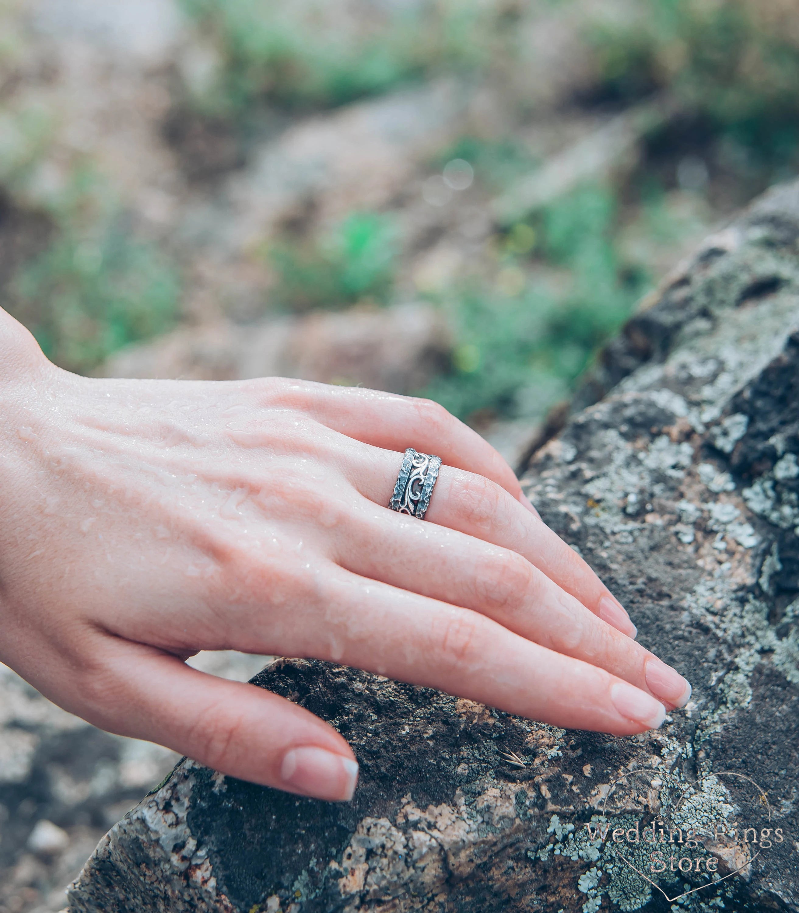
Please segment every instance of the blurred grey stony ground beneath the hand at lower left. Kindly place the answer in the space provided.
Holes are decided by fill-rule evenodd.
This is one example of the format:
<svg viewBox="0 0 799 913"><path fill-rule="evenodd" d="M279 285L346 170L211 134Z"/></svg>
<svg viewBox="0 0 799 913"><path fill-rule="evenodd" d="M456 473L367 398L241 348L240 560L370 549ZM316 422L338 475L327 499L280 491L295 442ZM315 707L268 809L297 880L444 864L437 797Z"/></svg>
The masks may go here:
<svg viewBox="0 0 799 913"><path fill-rule="evenodd" d="M189 663L246 681L269 660L234 651ZM0 665L0 913L54 913L98 840L178 760L89 726Z"/></svg>

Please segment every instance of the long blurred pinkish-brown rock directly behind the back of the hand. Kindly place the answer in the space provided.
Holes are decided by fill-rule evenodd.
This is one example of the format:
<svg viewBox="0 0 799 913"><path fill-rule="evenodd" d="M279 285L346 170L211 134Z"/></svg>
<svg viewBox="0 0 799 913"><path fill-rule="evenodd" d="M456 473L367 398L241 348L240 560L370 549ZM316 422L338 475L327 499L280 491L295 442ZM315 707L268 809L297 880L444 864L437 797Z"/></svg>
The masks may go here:
<svg viewBox="0 0 799 913"><path fill-rule="evenodd" d="M119 352L101 373L216 381L298 377L409 394L441 369L450 348L440 311L405 304L179 330Z"/></svg>

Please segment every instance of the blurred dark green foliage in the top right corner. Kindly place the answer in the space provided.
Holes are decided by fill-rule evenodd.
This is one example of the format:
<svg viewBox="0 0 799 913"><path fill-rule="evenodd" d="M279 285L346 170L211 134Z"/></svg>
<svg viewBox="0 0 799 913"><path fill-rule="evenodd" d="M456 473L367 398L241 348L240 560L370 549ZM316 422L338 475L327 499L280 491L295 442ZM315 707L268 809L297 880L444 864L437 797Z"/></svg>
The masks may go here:
<svg viewBox="0 0 799 913"><path fill-rule="evenodd" d="M762 163L796 160L799 10L792 0L640 0L592 28L604 89L631 101L668 89L706 135Z"/></svg>

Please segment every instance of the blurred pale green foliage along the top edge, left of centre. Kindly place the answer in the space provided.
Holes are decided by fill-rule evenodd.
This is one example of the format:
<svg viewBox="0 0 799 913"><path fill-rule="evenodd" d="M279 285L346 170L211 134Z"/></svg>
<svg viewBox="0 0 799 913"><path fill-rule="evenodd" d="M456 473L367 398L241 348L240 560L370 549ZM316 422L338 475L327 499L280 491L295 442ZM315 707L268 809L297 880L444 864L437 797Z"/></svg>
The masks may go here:
<svg viewBox="0 0 799 913"><path fill-rule="evenodd" d="M321 0L181 0L216 49L214 78L195 98L240 114L342 104L436 72L489 66L512 42L513 5L483 0L386 4L358 15Z"/></svg>

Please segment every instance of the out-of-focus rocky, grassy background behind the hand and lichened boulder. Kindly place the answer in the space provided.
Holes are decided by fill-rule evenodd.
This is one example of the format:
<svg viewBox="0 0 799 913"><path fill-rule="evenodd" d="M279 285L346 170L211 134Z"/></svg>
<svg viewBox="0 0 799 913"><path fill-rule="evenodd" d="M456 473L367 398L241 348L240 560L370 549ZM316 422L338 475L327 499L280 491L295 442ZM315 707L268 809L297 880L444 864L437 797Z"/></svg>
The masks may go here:
<svg viewBox="0 0 799 913"><path fill-rule="evenodd" d="M796 172L797 86L793 0L0 0L0 304L71 371L426 395L515 464ZM173 761L0 666L0 913Z"/></svg>

